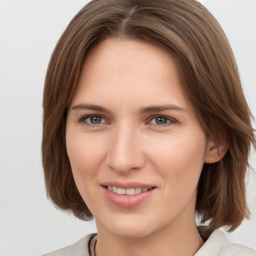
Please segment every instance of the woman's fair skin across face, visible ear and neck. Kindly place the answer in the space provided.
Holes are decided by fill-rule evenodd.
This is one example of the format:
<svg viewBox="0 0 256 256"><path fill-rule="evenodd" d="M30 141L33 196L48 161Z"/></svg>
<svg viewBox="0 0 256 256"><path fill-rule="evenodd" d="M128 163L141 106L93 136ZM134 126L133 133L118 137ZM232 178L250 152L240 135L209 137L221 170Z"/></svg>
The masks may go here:
<svg viewBox="0 0 256 256"><path fill-rule="evenodd" d="M134 40L94 46L68 111L66 147L96 219L96 256L193 255L203 244L196 186L203 163L222 154L167 52Z"/></svg>

